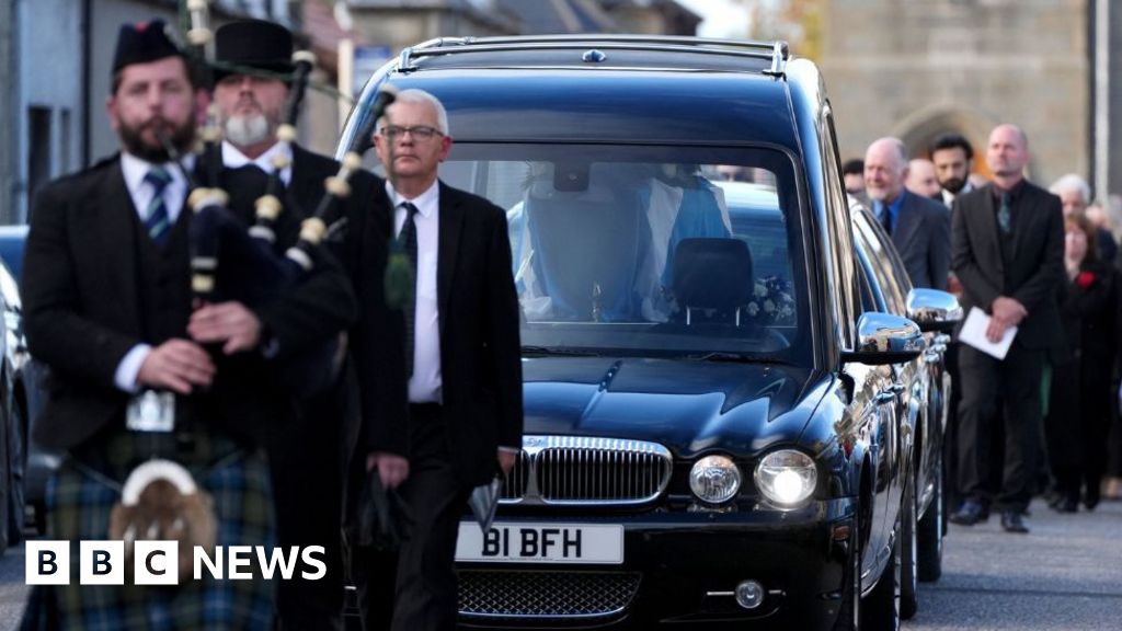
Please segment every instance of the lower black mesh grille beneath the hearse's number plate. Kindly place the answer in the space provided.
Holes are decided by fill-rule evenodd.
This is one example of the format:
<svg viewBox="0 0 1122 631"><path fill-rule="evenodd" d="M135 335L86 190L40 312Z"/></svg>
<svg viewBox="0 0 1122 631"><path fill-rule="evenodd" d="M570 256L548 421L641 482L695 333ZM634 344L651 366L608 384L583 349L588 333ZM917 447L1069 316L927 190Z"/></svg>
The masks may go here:
<svg viewBox="0 0 1122 631"><path fill-rule="evenodd" d="M460 570L460 616L610 616L627 609L638 584L633 571Z"/></svg>

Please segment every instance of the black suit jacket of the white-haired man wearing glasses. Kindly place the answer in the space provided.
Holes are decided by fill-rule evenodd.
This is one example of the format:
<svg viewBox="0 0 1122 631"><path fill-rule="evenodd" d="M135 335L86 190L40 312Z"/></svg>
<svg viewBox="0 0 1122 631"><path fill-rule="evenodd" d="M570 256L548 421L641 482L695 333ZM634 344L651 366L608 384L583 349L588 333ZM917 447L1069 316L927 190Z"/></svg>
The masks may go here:
<svg viewBox="0 0 1122 631"><path fill-rule="evenodd" d="M399 311L385 307L380 277L393 209L376 195L358 269L364 323L355 337L367 448L408 455L407 379ZM499 446L522 447L522 348L506 213L440 184L436 292L444 418L467 484L489 481ZM371 274L370 271L374 271ZM387 372L386 366L392 367ZM364 376L366 375L366 376Z"/></svg>

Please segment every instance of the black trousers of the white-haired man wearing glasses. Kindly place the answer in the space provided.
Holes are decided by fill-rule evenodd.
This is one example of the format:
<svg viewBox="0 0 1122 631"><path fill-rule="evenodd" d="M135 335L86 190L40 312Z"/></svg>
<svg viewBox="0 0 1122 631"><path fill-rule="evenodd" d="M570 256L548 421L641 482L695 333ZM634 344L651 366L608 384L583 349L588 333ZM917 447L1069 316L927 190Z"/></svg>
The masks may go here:
<svg viewBox="0 0 1122 631"><path fill-rule="evenodd" d="M397 561L393 631L456 629L456 539L470 486L458 475L440 405L410 405L410 525Z"/></svg>

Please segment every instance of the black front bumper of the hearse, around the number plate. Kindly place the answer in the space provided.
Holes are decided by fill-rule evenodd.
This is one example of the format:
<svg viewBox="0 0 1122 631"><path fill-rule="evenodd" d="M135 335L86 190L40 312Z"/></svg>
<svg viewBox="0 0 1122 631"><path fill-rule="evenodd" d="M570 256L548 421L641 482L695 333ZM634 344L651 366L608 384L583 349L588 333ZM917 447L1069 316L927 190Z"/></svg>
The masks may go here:
<svg viewBox="0 0 1122 631"><path fill-rule="evenodd" d="M620 523L624 563L611 566L461 563L460 622L472 628L654 624L828 628L840 606L854 499L798 511L652 511L642 514L498 516L504 523ZM742 580L766 591L754 610L732 595Z"/></svg>

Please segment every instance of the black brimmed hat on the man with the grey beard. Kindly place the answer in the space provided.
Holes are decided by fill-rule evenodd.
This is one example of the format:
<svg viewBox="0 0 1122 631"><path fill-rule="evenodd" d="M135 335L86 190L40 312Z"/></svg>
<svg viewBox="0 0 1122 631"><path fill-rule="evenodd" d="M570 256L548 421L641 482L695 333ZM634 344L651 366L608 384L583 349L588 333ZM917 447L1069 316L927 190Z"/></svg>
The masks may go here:
<svg viewBox="0 0 1122 631"><path fill-rule="evenodd" d="M292 33L265 20L241 20L222 25L214 33L214 81L234 74L229 65L291 74Z"/></svg>

